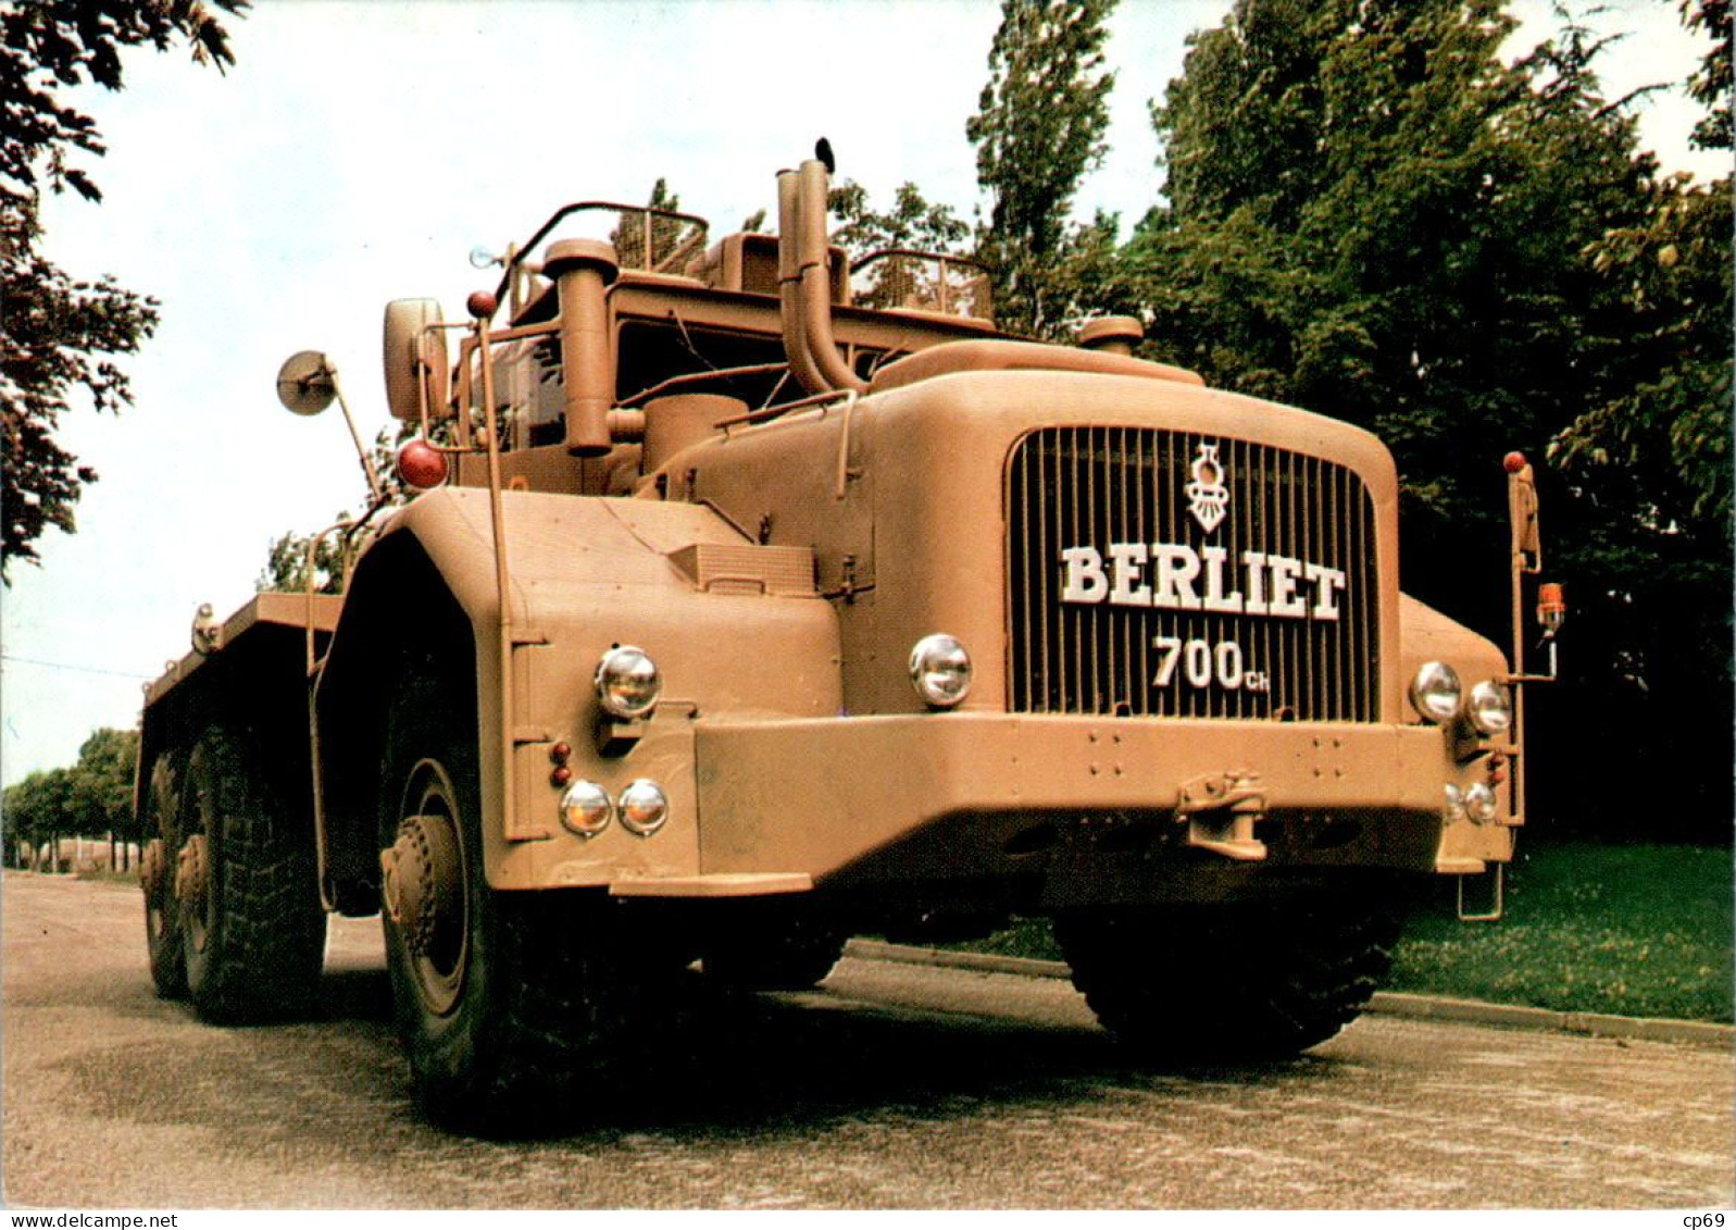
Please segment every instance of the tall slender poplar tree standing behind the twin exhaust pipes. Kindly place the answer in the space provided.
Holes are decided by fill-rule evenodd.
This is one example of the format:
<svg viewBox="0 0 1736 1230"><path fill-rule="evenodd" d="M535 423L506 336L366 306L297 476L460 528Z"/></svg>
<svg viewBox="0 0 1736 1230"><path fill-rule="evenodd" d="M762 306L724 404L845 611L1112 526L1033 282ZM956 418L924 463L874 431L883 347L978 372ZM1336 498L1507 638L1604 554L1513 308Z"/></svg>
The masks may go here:
<svg viewBox="0 0 1736 1230"><path fill-rule="evenodd" d="M1002 0L990 80L965 136L990 196L977 255L995 273L1003 327L1049 335L1062 323L1068 295L1055 262L1080 179L1106 149L1115 73L1102 49L1113 9L1115 0Z"/></svg>

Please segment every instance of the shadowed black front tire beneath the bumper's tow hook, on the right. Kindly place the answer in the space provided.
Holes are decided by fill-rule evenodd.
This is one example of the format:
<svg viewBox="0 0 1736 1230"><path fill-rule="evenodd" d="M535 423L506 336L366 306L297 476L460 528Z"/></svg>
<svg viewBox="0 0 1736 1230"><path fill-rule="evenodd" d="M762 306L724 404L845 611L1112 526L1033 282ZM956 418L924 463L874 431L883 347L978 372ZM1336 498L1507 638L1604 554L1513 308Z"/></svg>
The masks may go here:
<svg viewBox="0 0 1736 1230"><path fill-rule="evenodd" d="M1097 1020L1163 1063L1276 1060L1325 1042L1378 990L1401 929L1385 895L1055 919Z"/></svg>

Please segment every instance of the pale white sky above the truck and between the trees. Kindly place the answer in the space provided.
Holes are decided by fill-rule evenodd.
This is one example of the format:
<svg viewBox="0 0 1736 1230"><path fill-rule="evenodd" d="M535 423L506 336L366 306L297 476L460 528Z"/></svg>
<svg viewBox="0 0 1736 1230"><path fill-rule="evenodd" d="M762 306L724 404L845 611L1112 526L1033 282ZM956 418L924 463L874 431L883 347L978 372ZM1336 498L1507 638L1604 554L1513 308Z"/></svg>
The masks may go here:
<svg viewBox="0 0 1736 1230"><path fill-rule="evenodd" d="M279 361L323 349L365 438L387 422L380 309L434 295L448 318L493 278L477 243L523 238L557 205L642 202L667 177L713 236L774 203L774 174L830 137L838 175L877 203L915 181L969 215L965 118L986 80L996 0L259 0L229 21L236 66L135 50L122 94L87 90L109 155L85 160L102 205L50 200L47 254L161 299L125 363L137 405L75 408L62 443L102 481L78 533L49 532L42 568L0 592L0 780L69 764L97 726L130 726L139 686L187 645L194 608L241 605L274 537L361 495L337 413L295 419ZM1517 9L1528 42L1549 3ZM1616 0L1630 31L1604 66L1611 97L1679 82L1698 61L1677 5ZM1111 155L1082 214L1132 221L1156 198L1149 99L1184 38L1229 0L1121 0L1109 63ZM1641 111L1670 167L1696 111ZM1698 160L1696 160L1698 158Z"/></svg>

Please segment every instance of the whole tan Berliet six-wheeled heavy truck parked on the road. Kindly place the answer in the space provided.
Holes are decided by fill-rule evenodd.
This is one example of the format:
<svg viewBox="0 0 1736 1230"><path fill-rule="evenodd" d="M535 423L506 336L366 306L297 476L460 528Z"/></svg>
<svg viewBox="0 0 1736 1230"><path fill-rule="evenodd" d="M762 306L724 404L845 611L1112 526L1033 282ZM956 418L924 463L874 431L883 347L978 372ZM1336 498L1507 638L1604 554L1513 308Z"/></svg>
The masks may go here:
<svg viewBox="0 0 1736 1230"><path fill-rule="evenodd" d="M467 321L387 306L417 493L328 532L340 598L205 608L148 691L161 994L290 1011L325 914L382 914L462 1124L583 1096L694 962L806 987L851 935L1047 916L1184 1061L1333 1035L1430 877L1496 912L1522 459L1509 660L1399 592L1378 440L1134 358L1134 320L998 332L955 257L852 262L828 170L778 175L776 236L585 202ZM335 384L304 353L279 394Z"/></svg>

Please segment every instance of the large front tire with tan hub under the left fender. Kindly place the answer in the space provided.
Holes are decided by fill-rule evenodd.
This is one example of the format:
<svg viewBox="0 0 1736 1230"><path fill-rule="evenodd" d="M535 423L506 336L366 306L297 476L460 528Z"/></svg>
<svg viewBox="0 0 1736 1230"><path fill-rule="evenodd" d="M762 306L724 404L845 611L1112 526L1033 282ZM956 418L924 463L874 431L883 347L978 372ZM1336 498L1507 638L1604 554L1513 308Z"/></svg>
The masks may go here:
<svg viewBox="0 0 1736 1230"><path fill-rule="evenodd" d="M651 969L597 891L496 891L483 870L476 698L406 672L387 726L387 969L417 1103L446 1128L542 1131L595 1107Z"/></svg>

